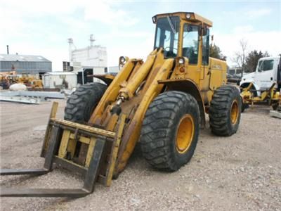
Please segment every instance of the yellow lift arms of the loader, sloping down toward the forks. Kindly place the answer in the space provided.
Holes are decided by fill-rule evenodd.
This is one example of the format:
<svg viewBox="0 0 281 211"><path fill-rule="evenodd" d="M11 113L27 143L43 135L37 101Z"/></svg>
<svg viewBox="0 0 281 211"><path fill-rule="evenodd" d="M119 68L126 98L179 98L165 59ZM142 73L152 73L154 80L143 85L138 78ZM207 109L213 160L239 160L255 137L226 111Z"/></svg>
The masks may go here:
<svg viewBox="0 0 281 211"><path fill-rule="evenodd" d="M105 129L115 130L118 117L117 115L112 115L109 110L116 105L116 102L110 105L107 104L110 101L115 101L117 96L126 99L121 108L122 113L126 115L130 122L126 124L126 129L122 136L115 172L122 171L126 166L126 162L138 141L145 112L153 98L164 87L163 84L158 84L158 81L169 76L173 63L174 59L172 58L164 60L162 50L152 51L145 63L142 60L128 60L122 71L115 77L110 87L107 88L93 115L91 115L89 124L101 124L104 125ZM144 79L145 85L136 95L136 91ZM117 86L117 84L119 85Z"/></svg>

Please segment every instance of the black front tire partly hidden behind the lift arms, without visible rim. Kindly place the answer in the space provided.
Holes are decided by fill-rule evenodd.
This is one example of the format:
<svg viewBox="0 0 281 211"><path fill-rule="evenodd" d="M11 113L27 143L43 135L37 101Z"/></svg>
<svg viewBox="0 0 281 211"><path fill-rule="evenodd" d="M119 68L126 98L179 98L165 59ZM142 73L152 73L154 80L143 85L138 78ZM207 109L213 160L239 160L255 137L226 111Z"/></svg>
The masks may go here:
<svg viewBox="0 0 281 211"><path fill-rule="evenodd" d="M74 91L65 106L65 120L84 124L98 105L107 86L100 83L84 84Z"/></svg>

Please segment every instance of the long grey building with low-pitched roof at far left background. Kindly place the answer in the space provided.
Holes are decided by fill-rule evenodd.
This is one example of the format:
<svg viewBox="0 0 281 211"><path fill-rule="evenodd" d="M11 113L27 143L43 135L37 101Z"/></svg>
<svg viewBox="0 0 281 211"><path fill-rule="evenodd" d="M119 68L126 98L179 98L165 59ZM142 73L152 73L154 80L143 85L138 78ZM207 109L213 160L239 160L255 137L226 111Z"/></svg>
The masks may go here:
<svg viewBox="0 0 281 211"><path fill-rule="evenodd" d="M52 71L52 63L43 56L0 54L0 72L8 71L43 75Z"/></svg>

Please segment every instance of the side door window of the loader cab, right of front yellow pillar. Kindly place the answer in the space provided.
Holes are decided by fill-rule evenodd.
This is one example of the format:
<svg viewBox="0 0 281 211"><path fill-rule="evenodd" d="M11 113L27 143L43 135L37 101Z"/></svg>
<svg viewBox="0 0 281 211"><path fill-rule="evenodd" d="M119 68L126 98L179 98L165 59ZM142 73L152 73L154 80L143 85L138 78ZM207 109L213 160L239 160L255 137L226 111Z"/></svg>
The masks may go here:
<svg viewBox="0 0 281 211"><path fill-rule="evenodd" d="M189 63L196 65L198 60L198 26L183 26L183 56L189 59Z"/></svg>

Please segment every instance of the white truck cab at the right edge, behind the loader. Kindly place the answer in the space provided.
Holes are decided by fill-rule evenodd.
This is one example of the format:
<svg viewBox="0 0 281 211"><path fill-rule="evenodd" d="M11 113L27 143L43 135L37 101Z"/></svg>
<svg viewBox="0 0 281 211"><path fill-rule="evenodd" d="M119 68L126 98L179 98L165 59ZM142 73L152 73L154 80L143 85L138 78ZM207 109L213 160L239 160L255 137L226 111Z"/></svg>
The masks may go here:
<svg viewBox="0 0 281 211"><path fill-rule="evenodd" d="M273 82L276 82L275 88L280 89L280 74L279 57L260 58L256 71L242 77L240 88L246 88L250 83L253 83L253 88L257 90L257 96L260 95L261 91L269 89Z"/></svg>

